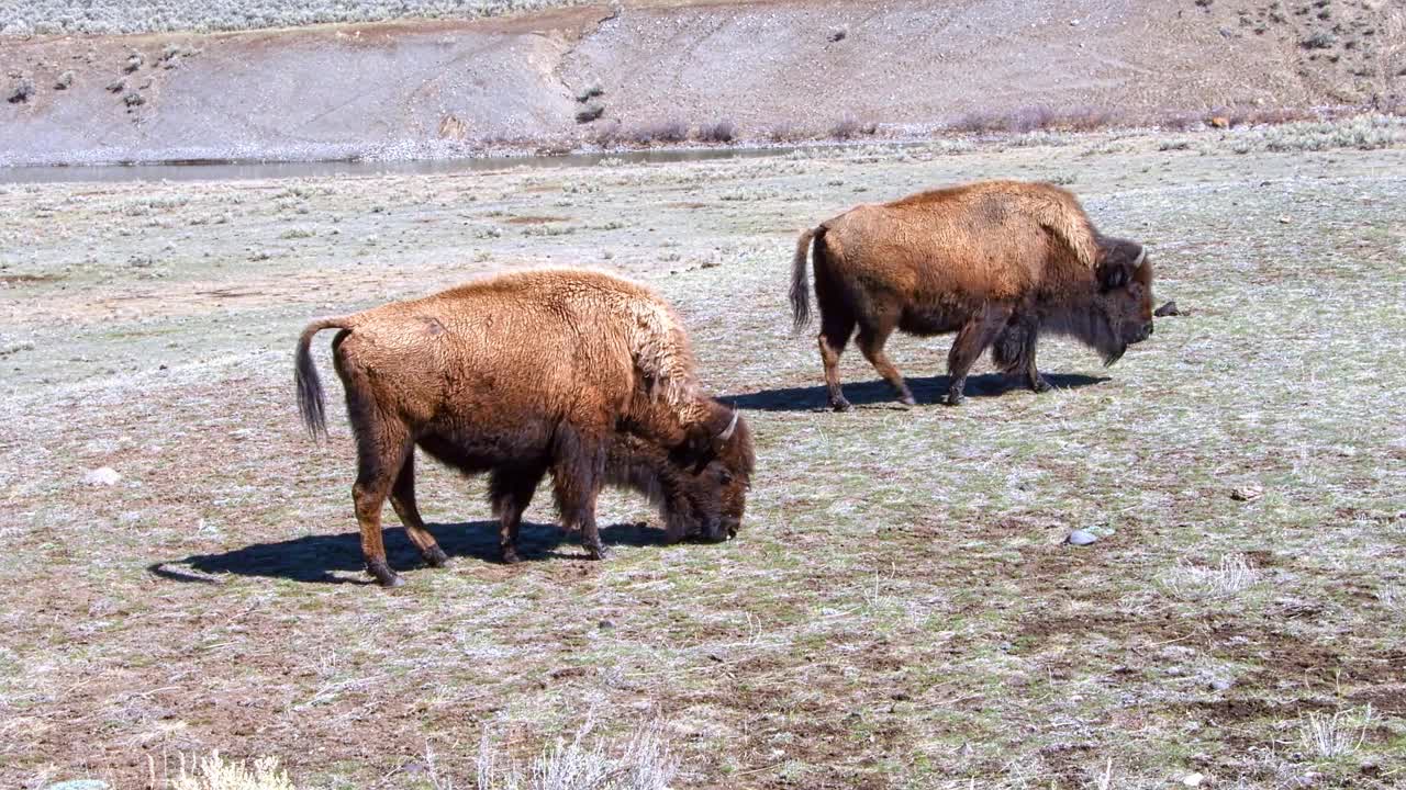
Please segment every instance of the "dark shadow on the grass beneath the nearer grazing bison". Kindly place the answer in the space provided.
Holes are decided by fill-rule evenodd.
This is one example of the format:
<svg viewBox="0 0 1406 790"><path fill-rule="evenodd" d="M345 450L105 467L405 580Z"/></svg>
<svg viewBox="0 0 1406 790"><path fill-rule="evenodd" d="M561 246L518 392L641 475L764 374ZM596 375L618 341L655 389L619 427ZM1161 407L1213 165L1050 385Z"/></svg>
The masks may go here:
<svg viewBox="0 0 1406 790"><path fill-rule="evenodd" d="M468 522L456 524L427 524L440 548L453 557L468 557L485 562L499 562L498 522ZM427 568L419 550L411 543L404 527L385 530L385 554L396 571ZM644 523L614 524L600 529L606 547L664 545L664 530ZM578 533L567 533L555 524L523 522L517 534L517 554L533 559L582 559L585 551L561 551L564 544L578 544ZM211 578L222 574L267 576L312 583L370 585L374 581L349 578L336 572L356 574L364 569L360 533L333 536L304 536L276 543L256 543L221 554L194 554L184 559L156 562L148 566L153 575L176 582L218 583Z"/></svg>

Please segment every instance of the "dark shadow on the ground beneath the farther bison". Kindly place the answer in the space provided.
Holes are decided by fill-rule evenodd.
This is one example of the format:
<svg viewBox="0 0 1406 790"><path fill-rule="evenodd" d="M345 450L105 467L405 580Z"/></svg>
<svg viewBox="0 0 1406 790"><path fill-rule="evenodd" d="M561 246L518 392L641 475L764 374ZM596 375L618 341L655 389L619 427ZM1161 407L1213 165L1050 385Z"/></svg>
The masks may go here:
<svg viewBox="0 0 1406 790"><path fill-rule="evenodd" d="M1084 375L1078 373L1046 373L1045 380L1056 389L1077 389L1108 381L1107 375ZM928 378L910 378L908 388L918 399L918 406L938 403L948 392L950 378L934 375ZM875 380L860 384L845 384L845 398L855 406L898 406L898 399L887 381ZM1025 384L1014 377L1000 373L984 373L967 377L967 398L994 398L1012 389L1026 389ZM734 408L756 412L813 412L828 410L830 395L825 387L785 387L780 389L759 389L737 395L723 395L718 398Z"/></svg>

